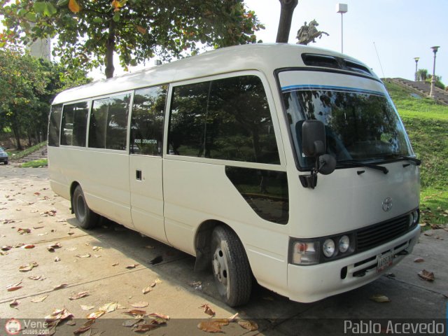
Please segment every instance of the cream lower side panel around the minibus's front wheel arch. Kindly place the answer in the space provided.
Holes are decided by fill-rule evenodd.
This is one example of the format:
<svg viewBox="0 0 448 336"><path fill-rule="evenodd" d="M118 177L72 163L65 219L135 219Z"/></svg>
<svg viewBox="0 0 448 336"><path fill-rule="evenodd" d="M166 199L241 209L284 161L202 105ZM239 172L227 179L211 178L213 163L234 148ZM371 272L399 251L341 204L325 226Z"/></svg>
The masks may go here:
<svg viewBox="0 0 448 336"><path fill-rule="evenodd" d="M195 255L195 233L207 220L221 221L241 240L258 283L287 290L286 225L260 218L225 175L224 165L164 162L165 232L174 247Z"/></svg>

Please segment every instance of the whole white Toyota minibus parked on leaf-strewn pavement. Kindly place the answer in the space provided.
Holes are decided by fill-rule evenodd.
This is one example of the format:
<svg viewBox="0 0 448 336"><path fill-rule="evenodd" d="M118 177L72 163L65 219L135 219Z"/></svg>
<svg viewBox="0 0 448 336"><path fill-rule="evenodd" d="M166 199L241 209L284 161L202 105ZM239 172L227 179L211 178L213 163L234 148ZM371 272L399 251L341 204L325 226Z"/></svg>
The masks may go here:
<svg viewBox="0 0 448 336"><path fill-rule="evenodd" d="M209 267L223 300L253 279L298 302L384 274L419 237L419 165L381 80L321 48L205 52L61 92L52 190Z"/></svg>

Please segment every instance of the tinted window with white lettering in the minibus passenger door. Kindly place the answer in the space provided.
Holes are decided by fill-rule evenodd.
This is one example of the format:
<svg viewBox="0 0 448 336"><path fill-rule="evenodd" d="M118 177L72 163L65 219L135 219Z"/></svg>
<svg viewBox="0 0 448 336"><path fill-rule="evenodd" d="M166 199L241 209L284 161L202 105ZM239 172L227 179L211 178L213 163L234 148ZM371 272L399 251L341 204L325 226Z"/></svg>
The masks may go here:
<svg viewBox="0 0 448 336"><path fill-rule="evenodd" d="M167 85L136 90L132 106L130 153L162 156Z"/></svg>

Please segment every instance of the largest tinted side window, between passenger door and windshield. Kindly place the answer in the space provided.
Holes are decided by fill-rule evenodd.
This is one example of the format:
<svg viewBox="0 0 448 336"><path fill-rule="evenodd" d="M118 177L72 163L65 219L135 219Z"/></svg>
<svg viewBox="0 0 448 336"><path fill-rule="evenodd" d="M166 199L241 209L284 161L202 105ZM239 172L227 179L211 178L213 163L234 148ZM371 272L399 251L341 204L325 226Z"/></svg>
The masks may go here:
<svg viewBox="0 0 448 336"><path fill-rule="evenodd" d="M240 76L174 87L169 153L279 164L260 78Z"/></svg>

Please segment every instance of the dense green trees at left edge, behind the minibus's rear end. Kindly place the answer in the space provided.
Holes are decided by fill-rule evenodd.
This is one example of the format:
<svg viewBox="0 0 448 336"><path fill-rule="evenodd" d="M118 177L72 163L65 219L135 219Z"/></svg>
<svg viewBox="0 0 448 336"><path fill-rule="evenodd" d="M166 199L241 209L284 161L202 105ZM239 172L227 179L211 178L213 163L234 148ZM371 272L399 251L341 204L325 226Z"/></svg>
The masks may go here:
<svg viewBox="0 0 448 336"><path fill-rule="evenodd" d="M55 94L88 81L84 71L66 71L20 48L0 49L0 92L6 92L0 96L0 130L13 132L18 149L24 137L29 145L45 139Z"/></svg>

